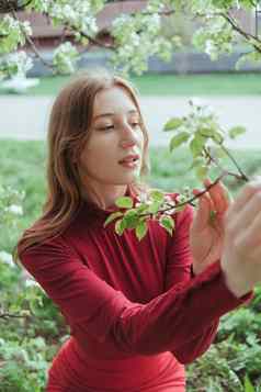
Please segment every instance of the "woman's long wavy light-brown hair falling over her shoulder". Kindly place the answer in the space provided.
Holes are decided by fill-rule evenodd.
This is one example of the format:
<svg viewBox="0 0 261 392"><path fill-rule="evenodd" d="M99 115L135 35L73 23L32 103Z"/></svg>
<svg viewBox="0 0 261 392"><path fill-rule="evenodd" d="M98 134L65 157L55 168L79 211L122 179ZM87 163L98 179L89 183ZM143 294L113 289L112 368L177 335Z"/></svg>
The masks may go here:
<svg viewBox="0 0 261 392"><path fill-rule="evenodd" d="M42 216L27 228L14 251L18 261L29 247L61 234L71 223L82 202L78 158L90 136L93 102L99 91L123 88L136 105L145 143L140 175L148 172L148 133L135 89L121 77L105 70L86 72L63 88L56 98L48 126L47 198ZM133 190L140 189L138 183Z"/></svg>

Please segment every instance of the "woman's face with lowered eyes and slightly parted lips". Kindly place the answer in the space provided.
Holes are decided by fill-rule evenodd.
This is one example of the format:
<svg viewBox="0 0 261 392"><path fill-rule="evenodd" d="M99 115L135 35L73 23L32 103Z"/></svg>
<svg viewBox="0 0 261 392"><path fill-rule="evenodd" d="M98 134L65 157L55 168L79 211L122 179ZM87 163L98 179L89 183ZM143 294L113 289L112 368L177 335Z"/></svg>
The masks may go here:
<svg viewBox="0 0 261 392"><path fill-rule="evenodd" d="M121 87L100 91L93 104L90 138L81 154L89 186L123 186L139 175L144 147L140 116Z"/></svg>

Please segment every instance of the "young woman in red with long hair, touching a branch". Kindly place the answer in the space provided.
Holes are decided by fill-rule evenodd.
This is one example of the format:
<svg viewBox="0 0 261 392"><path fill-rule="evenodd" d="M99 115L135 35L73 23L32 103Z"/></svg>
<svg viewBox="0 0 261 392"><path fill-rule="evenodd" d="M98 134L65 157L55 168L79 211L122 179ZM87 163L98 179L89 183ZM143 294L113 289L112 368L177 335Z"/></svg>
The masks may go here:
<svg viewBox="0 0 261 392"><path fill-rule="evenodd" d="M246 262L250 250L236 243L238 233L243 244L257 242L257 227L246 233L261 206L261 184L247 187L230 208L216 184L194 219L191 206L174 215L172 237L152 220L141 242L130 229L118 236L113 223L104 227L118 197L138 202L148 134L129 83L101 72L61 90L48 147L44 213L18 245L22 265L71 329L47 391L183 392L184 363L208 348L219 317L249 300L261 280L260 248ZM256 210L246 221L240 214L250 199Z"/></svg>

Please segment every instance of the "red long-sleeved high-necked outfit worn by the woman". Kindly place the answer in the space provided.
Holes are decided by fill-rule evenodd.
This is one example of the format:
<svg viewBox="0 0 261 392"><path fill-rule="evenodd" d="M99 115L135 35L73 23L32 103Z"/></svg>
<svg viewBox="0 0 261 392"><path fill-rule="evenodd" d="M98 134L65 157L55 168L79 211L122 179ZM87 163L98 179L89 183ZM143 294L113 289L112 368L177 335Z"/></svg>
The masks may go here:
<svg viewBox="0 0 261 392"><path fill-rule="evenodd" d="M213 341L218 318L248 300L227 289L217 261L191 277L192 208L171 237L149 222L138 242L84 202L70 226L33 246L22 265L58 305L71 337L48 371L48 392L183 392L184 366Z"/></svg>

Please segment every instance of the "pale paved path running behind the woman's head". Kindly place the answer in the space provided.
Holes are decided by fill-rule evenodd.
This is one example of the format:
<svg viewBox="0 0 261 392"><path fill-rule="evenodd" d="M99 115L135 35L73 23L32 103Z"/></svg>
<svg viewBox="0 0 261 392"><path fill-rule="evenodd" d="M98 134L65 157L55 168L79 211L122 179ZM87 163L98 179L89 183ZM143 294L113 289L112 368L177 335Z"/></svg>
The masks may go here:
<svg viewBox="0 0 261 392"><path fill-rule="evenodd" d="M170 134L162 125L171 116L188 113L188 99L178 97L143 97L141 108L151 145L166 145ZM54 98L0 96L0 138L43 139ZM261 149L260 97L203 97L219 115L225 127L245 125L248 133L230 142L238 148Z"/></svg>

